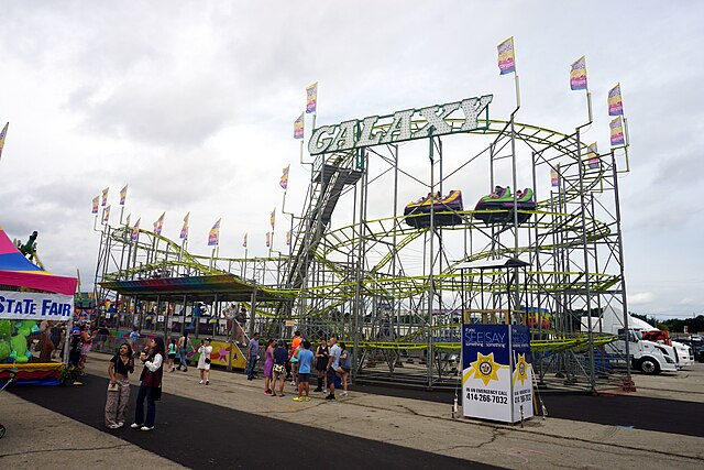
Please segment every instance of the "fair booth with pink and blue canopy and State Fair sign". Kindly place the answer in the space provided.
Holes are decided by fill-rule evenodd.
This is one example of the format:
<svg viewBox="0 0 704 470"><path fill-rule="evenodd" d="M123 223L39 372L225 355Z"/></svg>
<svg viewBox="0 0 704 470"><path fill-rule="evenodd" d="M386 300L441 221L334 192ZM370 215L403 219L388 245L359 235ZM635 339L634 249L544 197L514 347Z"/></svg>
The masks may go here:
<svg viewBox="0 0 704 470"><path fill-rule="evenodd" d="M74 313L76 278L30 262L0 229L0 385L56 385L62 363L59 323Z"/></svg>

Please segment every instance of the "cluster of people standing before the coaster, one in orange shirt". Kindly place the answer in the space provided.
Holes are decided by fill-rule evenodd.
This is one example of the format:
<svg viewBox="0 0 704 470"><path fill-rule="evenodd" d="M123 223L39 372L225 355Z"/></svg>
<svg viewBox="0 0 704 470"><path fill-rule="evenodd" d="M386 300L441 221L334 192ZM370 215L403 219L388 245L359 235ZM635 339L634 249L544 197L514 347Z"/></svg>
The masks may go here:
<svg viewBox="0 0 704 470"><path fill-rule="evenodd" d="M290 378L290 384L298 393L294 401L310 401L310 381L315 368L318 386L314 392L322 392L324 383L328 392L326 400L336 400L336 389L342 389L340 394L345 396L352 354L344 342L338 345L338 338L333 335L329 341L323 338L315 352L311 348L312 345L302 338L300 331L294 334L289 349L286 349L283 340L271 339L264 351L264 394L277 396L278 389L278 396L285 396L284 383Z"/></svg>

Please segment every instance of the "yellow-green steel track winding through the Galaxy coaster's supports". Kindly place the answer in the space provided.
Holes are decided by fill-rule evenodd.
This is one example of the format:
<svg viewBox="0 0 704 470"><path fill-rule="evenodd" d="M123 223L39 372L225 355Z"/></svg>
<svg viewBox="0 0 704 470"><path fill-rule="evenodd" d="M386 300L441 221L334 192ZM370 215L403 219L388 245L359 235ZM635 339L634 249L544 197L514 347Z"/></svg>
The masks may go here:
<svg viewBox="0 0 704 470"><path fill-rule="evenodd" d="M461 122L461 121L458 121ZM470 134L480 135L499 135L506 134L509 122L491 120L487 121L488 125L483 130L475 130L468 132ZM424 122L414 123L414 125L422 127ZM381 128L380 128L381 129ZM578 142L571 136L563 133L554 132L544 128L539 128L529 124L515 123L514 129L518 140L535 146L538 150L550 149L561 155L565 155L572 159L573 162L579 164L578 157ZM581 154L586 153L586 145L581 144ZM330 155L334 157L334 155ZM603 192L603 177L604 173L601 170L587 171L583 177L583 189L588 193L602 193ZM575 200L581 197L579 190L565 187L561 194L562 203L564 200ZM557 196L556 196L557 197ZM530 214L532 217L527 222L521 223L521 228L537 229L549 231L554 228L554 225L550 220L561 220L560 230L565 233L573 234L574 239L582 233L583 226L581 220L576 220L570 214L561 214L551 211L551 207L557 207L557 200L543 199L538 201L537 210L535 211L519 211L522 214ZM477 212L492 212L492 211L474 211L464 210L457 212L463 220L463 223L457 226L444 226L443 231L462 231L462 230L480 230L485 229L480 222L474 220L473 216ZM442 212L439 212L442 214ZM454 212L453 212L454 214ZM596 241L607 238L612 234L609 227L594 219L586 219L584 221L587 231L587 240ZM110 231L110 237L114 242L128 243L131 229L116 229ZM365 294L370 295L384 295L394 296L397 298L407 298L427 293L429 289L428 276L394 276L384 274L383 270L388 267L389 262L394 256L403 252L414 241L419 238L426 237L428 229L417 229L407 227L404 223L404 217L396 218L381 218L375 220L366 220L364 222L364 234L362 240L364 243L374 244L380 242L386 242L386 245L392 244L391 240L395 240L394 249L389 249L388 252L383 254L373 266L370 266L364 271L362 280L355 281L350 276L349 267L337 263L336 255L343 256L349 253L353 248L360 243L361 237L359 236L359 226L350 225L333 230L327 231L322 240L316 247L312 247L314 258L316 262L324 266L329 272L333 273L338 278L343 280L338 283L328 285L309 286L306 288L285 288L280 286L271 285L257 285L258 288L275 294L277 296L286 298L298 298L301 295L312 298L326 298L332 305L339 305L343 302L350 300L355 296L358 286L360 286ZM244 262L260 262L260 263L274 263L274 262L290 262L288 256L282 255L280 258L254 258L254 259L240 259L240 258L217 258L215 263L210 256L194 255L187 251L182 251L182 247L163 236L156 236L154 232L140 229L140 233L144 234L151 243L139 242L139 248L142 250L151 251L154 253L153 259L157 260L147 264L142 264L139 267L122 270L120 272L109 273L105 276L107 281L117 278L130 278L139 275L140 273L153 271L164 267L185 267L194 273L200 274L215 274L227 272L222 269L216 269L213 266L223 264L232 265L232 263L241 264ZM552 244L541 244L540 247L522 247L519 248L519 252L534 252L536 250L550 251L554 248L559 248ZM474 261L488 259L490 255L508 254L514 250L488 250L473 252L464 260L451 263L442 270L441 273L435 274L435 288L443 292L457 292L460 289L460 272L457 269L457 263L464 261ZM495 274L499 274L498 272ZM527 271L527 278L536 280L540 275L548 276L551 280L570 278L580 276L583 273L578 272L560 272L560 271ZM235 273L237 275L237 273ZM468 274L465 274L466 276ZM470 274L471 275L471 274ZM619 276L607 273L588 273L588 283L593 292L605 292L613 285L619 282ZM585 281L582 281L585 282ZM471 284L474 289L479 291L476 283ZM492 285L492 289L501 292L505 289L505 286ZM527 292L562 292L565 289L574 289L575 284L562 283L559 281L543 282L540 285L527 284L521 286ZM486 287L485 287L486 289ZM337 303L337 304L336 304ZM316 313L308 313L308 315ZM271 314L266 314L271 316ZM459 327L459 326L457 326ZM427 331L426 331L427 332ZM610 336L600 336L594 339L595 346L601 346L606 342L613 341ZM414 342L414 341L361 341L362 348L373 349L425 349L428 347L427 341ZM531 346L535 350L584 350L588 347L588 339L586 337L576 336L570 338L558 338L554 335L553 339L548 340L534 340ZM433 348L438 349L459 349L459 343L433 343Z"/></svg>

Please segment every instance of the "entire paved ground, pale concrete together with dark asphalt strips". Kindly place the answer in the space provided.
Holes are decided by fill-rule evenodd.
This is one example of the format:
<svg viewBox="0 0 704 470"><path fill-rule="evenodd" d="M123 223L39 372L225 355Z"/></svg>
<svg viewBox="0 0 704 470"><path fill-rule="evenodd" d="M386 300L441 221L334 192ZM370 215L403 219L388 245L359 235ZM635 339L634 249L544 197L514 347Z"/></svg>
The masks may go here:
<svg viewBox="0 0 704 470"><path fill-rule="evenodd" d="M165 374L156 429L143 433L103 427L108 359L91 354L84 385L11 387L14 395L0 395L0 420L9 425L0 468L75 468L80 461L118 469L140 461L152 469L302 462L336 469L700 470L704 461L704 364L638 376L638 392L624 396L543 394L548 417L516 425L452 414L451 393L354 384L336 402L314 393L310 402L296 403L288 384L286 397L272 397L263 394L261 379L212 370L205 386L189 369ZM135 396L134 386L129 416Z"/></svg>

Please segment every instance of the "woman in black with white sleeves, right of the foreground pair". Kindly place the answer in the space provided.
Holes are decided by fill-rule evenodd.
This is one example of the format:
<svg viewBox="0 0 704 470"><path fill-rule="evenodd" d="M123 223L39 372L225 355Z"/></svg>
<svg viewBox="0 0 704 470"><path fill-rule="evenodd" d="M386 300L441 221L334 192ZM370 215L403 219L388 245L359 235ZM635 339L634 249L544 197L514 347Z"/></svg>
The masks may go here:
<svg viewBox="0 0 704 470"><path fill-rule="evenodd" d="M140 375L140 391L136 394L136 409L132 429L152 430L156 419L156 402L162 398L162 376L164 375L164 339L150 340L148 352L142 352L140 360L144 363ZM144 400L146 400L146 420L144 419Z"/></svg>

